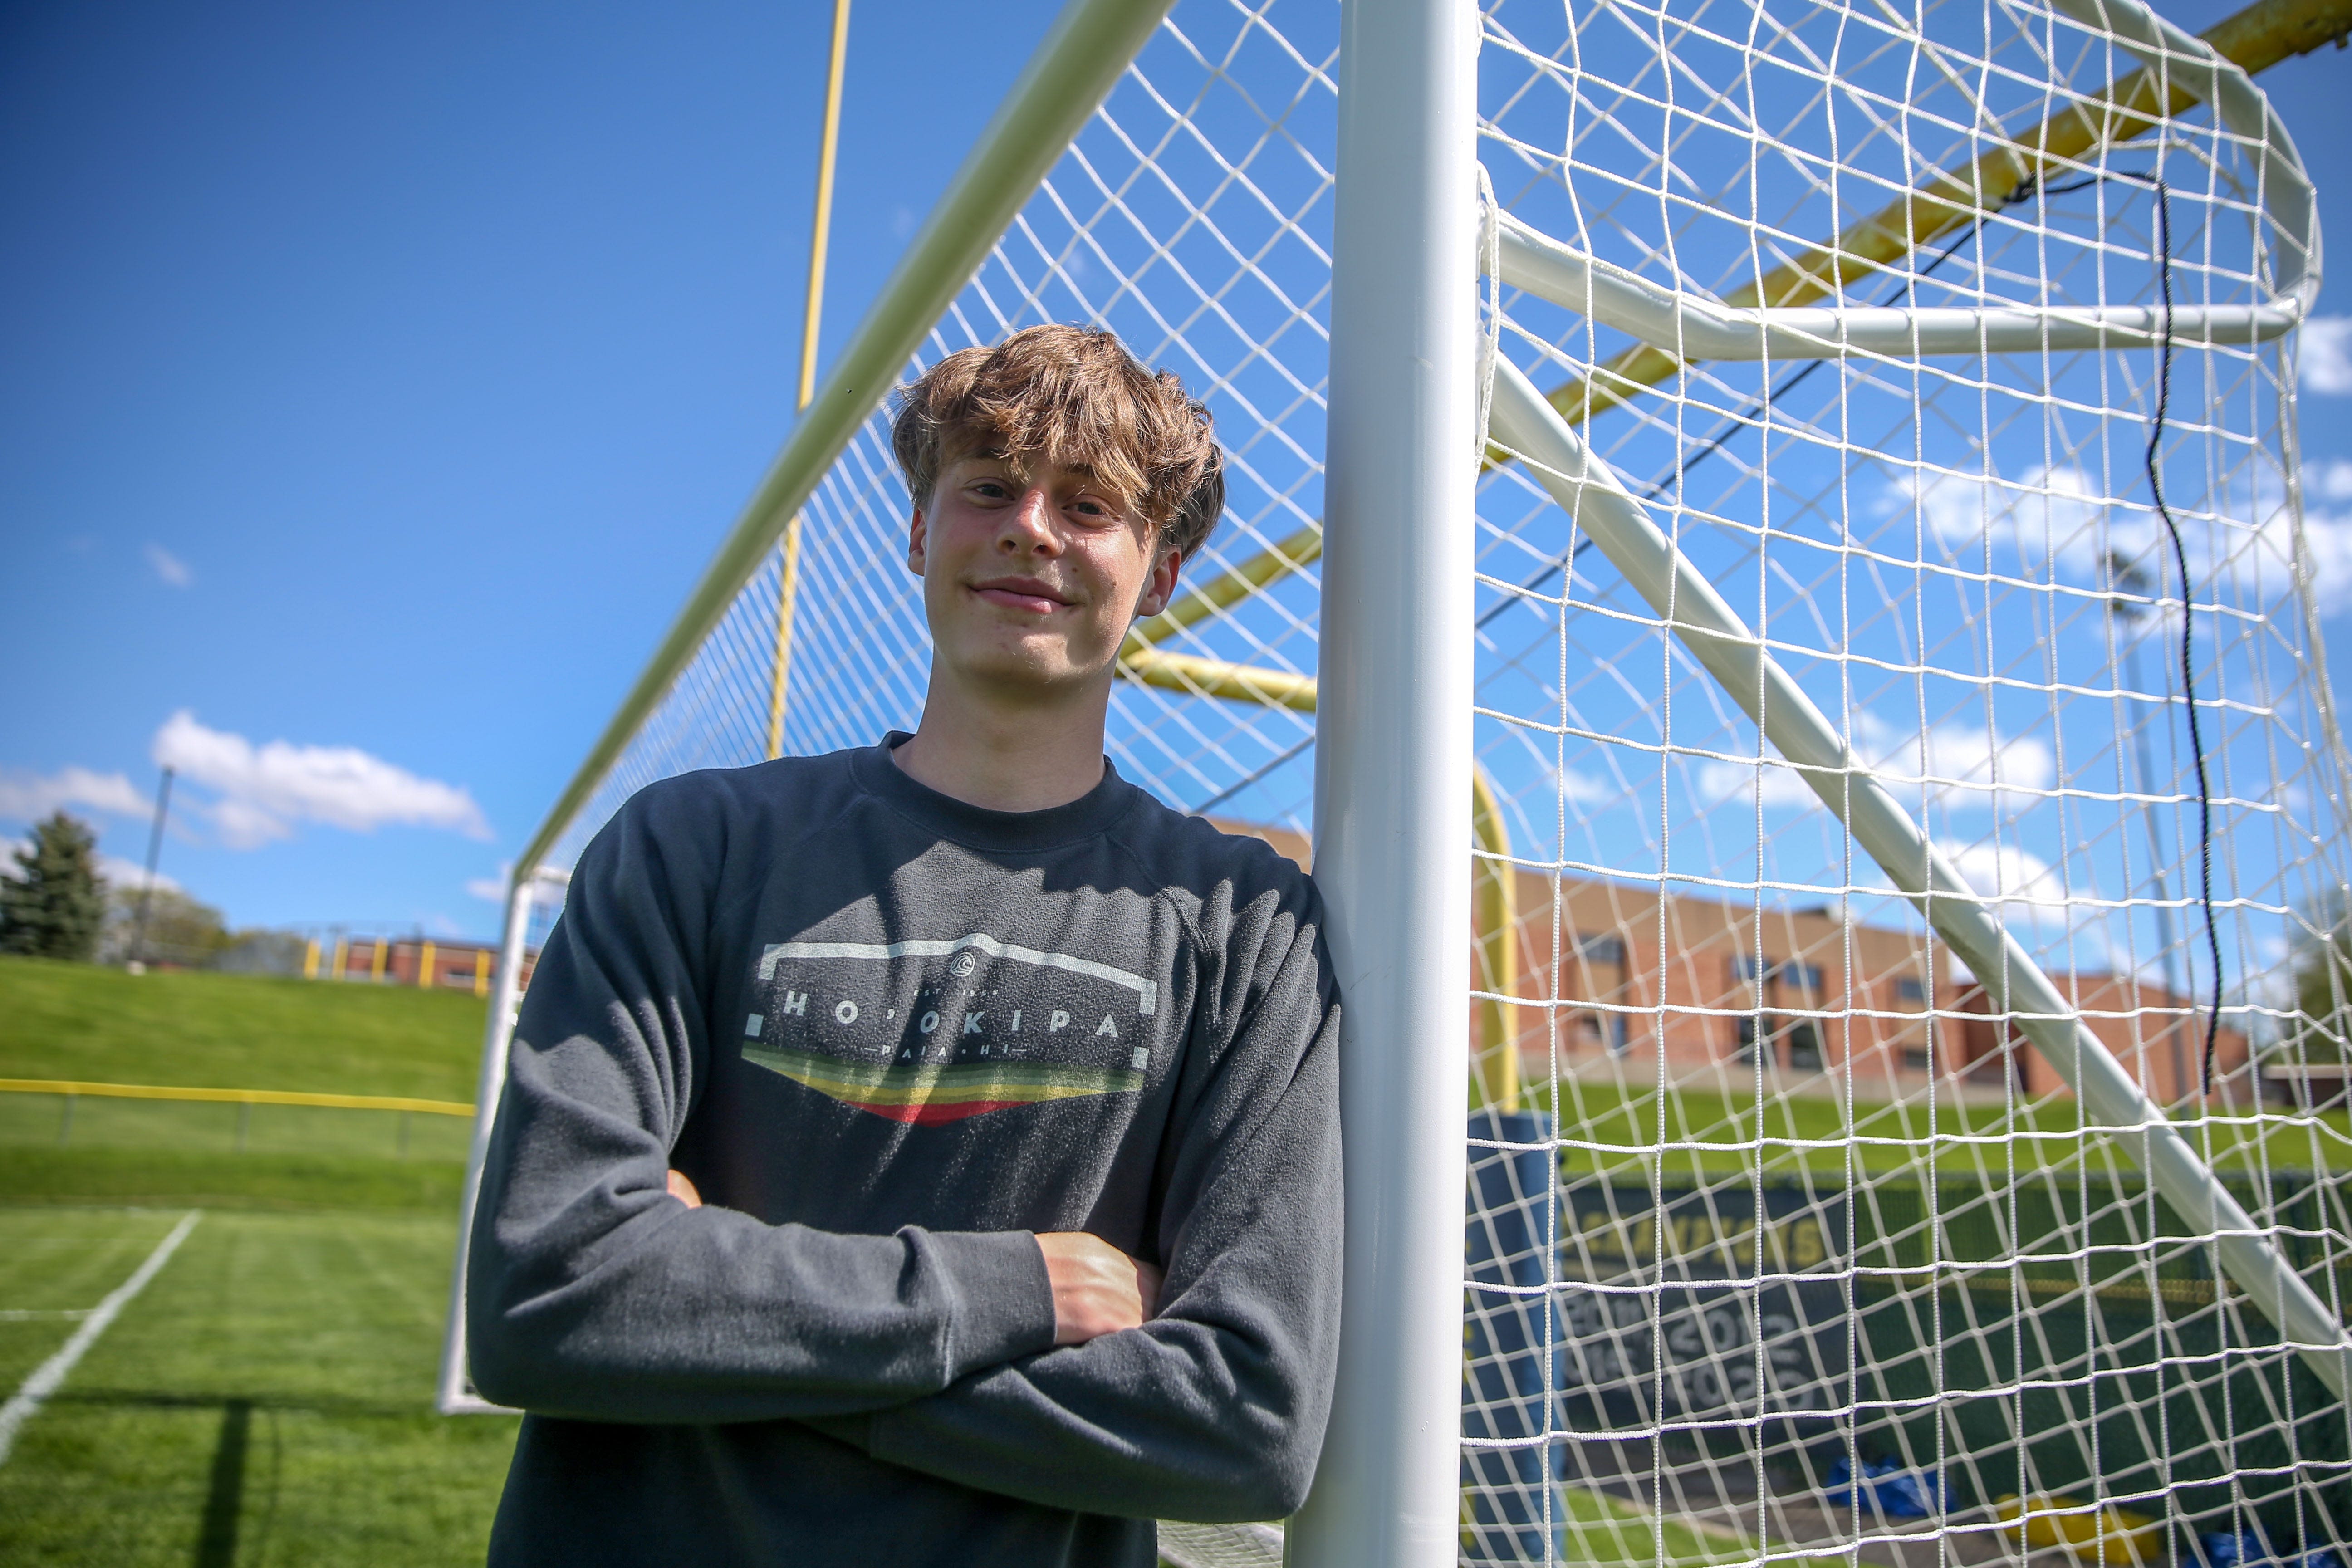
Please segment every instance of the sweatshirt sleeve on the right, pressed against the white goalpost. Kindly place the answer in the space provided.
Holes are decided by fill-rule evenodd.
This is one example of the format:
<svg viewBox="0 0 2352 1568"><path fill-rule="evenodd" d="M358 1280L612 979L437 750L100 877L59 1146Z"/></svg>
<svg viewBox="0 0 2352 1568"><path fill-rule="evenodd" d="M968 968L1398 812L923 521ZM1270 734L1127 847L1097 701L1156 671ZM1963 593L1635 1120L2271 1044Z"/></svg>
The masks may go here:
<svg viewBox="0 0 2352 1568"><path fill-rule="evenodd" d="M1162 1157L1167 1284L1150 1324L814 1425L880 1460L1049 1507L1296 1512L1338 1356L1338 997L1319 924L1303 879L1235 919L1242 961L1223 990L1237 1025L1207 1041Z"/></svg>

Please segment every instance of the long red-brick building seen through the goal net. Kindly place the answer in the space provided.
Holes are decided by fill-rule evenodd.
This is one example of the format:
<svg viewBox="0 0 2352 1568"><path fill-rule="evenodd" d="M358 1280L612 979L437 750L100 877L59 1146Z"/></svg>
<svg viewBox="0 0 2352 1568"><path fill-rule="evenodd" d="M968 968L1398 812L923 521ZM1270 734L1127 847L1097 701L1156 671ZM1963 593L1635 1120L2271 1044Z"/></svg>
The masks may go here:
<svg viewBox="0 0 2352 1568"><path fill-rule="evenodd" d="M1303 835L1221 825L1308 863ZM1931 1086L2002 1098L2004 1074L2030 1098L2065 1093L2058 1070L1992 1018L1983 987L1917 931L1538 872L1512 877L1512 905L1517 973L1508 987L1491 976L1475 983L1524 999L1503 1009L1522 1081L1649 1079L1663 1053L1668 1079L1731 1088L1762 1065L1766 1088L1799 1093L1832 1093L1851 1067L1853 1093L1875 1100ZM2197 1093L2194 1001L2131 976L2051 978L2159 1105ZM2246 1063L2246 1037L2220 1030L2218 1093L2253 1098Z"/></svg>

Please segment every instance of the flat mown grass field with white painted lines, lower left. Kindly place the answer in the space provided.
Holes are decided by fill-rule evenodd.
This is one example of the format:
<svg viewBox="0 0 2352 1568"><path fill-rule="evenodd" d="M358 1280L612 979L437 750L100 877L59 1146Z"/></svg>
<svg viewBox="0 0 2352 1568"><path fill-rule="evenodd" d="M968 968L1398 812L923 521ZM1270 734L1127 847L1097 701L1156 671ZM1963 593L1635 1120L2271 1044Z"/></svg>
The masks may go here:
<svg viewBox="0 0 2352 1568"><path fill-rule="evenodd" d="M89 1307L176 1215L0 1208L0 1302ZM480 1561L515 1420L430 1408L447 1279L447 1213L207 1211L19 1432L0 1561ZM71 1331L0 1324L7 1387Z"/></svg>

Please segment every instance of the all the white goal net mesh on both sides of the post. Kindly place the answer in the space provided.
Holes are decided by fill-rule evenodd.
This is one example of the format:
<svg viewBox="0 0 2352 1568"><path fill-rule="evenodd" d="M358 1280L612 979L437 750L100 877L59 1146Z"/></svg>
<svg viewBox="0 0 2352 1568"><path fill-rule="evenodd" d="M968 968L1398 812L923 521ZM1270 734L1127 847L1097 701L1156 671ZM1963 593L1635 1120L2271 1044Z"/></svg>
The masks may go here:
<svg viewBox="0 0 2352 1568"><path fill-rule="evenodd" d="M908 364L1096 322L1211 407L1230 510L1204 597L1131 642L1110 750L1301 853L1336 35L1322 0L1183 0ZM2136 68L2002 0L1498 0L1482 162L1501 209L1686 299L2270 299L2258 158L2204 108L2103 115ZM1983 209L1922 195L2070 115L2105 129ZM1823 259L1884 209L1936 221ZM2352 1128L2312 1088L2352 823L2293 339L1686 362L1505 287L1482 324L2343 1316ZM804 508L790 752L915 722L906 512L877 414ZM1465 1561L2343 1549L2352 1418L2129 1131L2084 1126L1524 463L1494 454L1477 517ZM555 863L644 783L767 755L781 581Z"/></svg>

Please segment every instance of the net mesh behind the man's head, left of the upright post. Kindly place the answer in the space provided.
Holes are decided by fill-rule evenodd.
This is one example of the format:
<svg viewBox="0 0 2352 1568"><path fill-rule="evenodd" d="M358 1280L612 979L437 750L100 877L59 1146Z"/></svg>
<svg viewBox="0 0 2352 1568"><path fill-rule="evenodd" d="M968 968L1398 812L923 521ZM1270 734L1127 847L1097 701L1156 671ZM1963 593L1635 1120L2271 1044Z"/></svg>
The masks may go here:
<svg viewBox="0 0 2352 1568"><path fill-rule="evenodd" d="M1167 684L1122 684L1110 755L1171 804L1298 835L1312 806L1312 712L1202 701L1181 661L1315 672L1336 40L1336 7L1181 7L906 369L913 378L1037 322L1089 322L1209 404L1228 458L1225 517L1185 576L1211 583L1284 543L1296 569L1167 635L1171 658L1155 665ZM802 512L786 752L913 729L929 635L903 564L906 517L877 411ZM781 583L771 552L553 860L576 858L654 778L767 755Z"/></svg>

